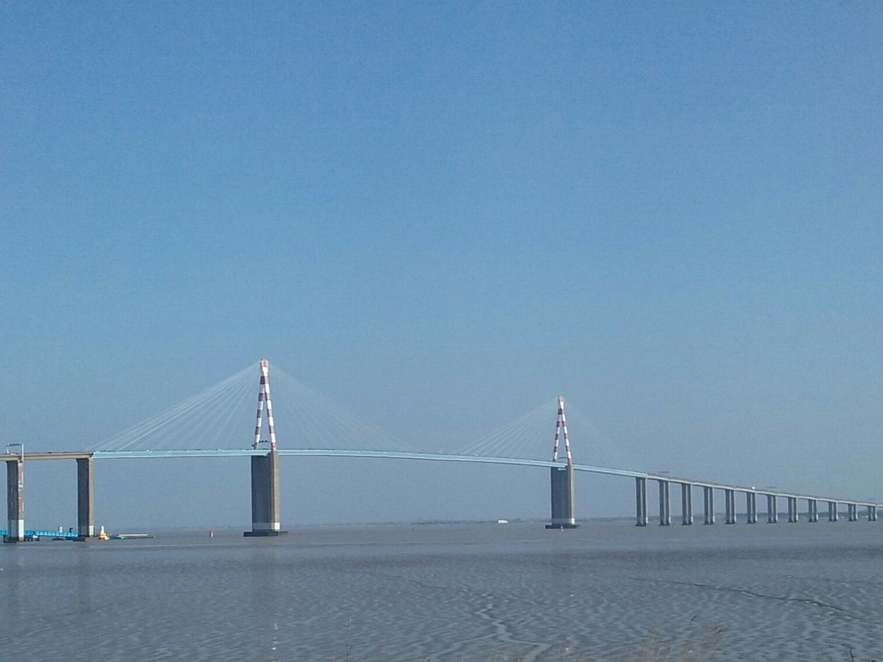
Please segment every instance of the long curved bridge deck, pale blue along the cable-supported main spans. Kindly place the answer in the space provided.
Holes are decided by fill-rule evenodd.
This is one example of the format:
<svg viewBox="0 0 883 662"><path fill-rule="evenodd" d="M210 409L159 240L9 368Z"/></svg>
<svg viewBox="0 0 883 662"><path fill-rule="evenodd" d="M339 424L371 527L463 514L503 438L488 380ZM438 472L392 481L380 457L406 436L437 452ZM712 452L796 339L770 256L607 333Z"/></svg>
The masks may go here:
<svg viewBox="0 0 883 662"><path fill-rule="evenodd" d="M560 467L561 463L547 460L531 460L519 457L489 457L483 455L454 455L448 453L417 453L411 451L389 450L360 450L339 448L286 448L276 451L279 455L299 455L313 457L377 457L398 460L423 460L431 462L465 462L483 464L509 464L524 467ZM71 460L93 458L94 460L110 459L144 459L162 457L245 457L249 455L267 455L265 449L253 450L251 448L226 449L214 448L204 450L96 450L96 451L64 451L58 453L26 453L26 460ZM14 460L19 457L15 454L0 454L0 459ZM709 480L696 480L693 478L681 478L668 474L652 474L644 471L632 471L627 469L614 469L600 467L592 464L574 464L575 471L599 473L607 476L624 476L629 478L644 478L647 480L673 483L675 485L692 485L695 487L708 487L715 490L732 490L739 493L755 493L762 496L782 497L785 499L803 499L817 501L835 501L842 504L854 504L864 507L879 507L879 503L868 500L841 499L818 494L802 492L784 492L780 490L758 489L748 485L731 485Z"/></svg>

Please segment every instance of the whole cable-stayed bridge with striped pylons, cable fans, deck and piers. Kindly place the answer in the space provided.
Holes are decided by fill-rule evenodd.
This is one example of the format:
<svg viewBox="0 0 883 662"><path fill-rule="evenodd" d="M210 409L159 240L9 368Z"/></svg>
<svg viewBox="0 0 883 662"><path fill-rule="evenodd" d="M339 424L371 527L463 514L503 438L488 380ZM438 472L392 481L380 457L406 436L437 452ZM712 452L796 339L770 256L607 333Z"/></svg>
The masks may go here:
<svg viewBox="0 0 883 662"><path fill-rule="evenodd" d="M255 379L257 378L257 380ZM258 382L255 388L255 381ZM257 397L255 398L255 391ZM253 438L244 442L244 421L257 400ZM555 437L549 454L551 419L555 415ZM426 452L414 448L381 428L367 424L290 374L274 366L273 391L270 391L269 365L248 366L169 410L147 418L138 425L115 434L83 450L26 453L21 444L5 449L7 478L8 528L4 541L16 542L26 537L24 524L24 463L26 461L75 460L77 463L77 511L80 539L94 537L94 467L95 460L120 458L148 459L162 457L248 456L252 480L252 529L248 536L274 536L284 533L279 508L280 455L325 457L373 457L427 462L485 463L545 468L550 471L551 517L547 528L577 526L574 511L574 476L589 472L632 478L635 484L635 515L638 526L646 526L647 481L659 488L659 523L672 522L670 493L672 485L681 492L681 523L692 524L692 497L702 491L703 522L716 520L714 497L722 493L724 517L736 523L736 494L743 495L747 523L758 522L758 495L766 498L766 521L779 520L780 500L787 507L790 523L799 520L798 500L805 501L809 522L819 520L819 502L826 505L827 519L836 522L844 506L850 522L859 519L866 509L868 521L877 520L878 503L812 492L786 492L757 489L747 485L728 485L696 478L675 478L641 470L617 469L599 464L576 463L570 448L570 425L577 423L582 438L597 437L591 423L579 412L565 408L564 399L544 402L509 425L482 435L478 440L452 450ZM282 445L277 445L275 420L284 421ZM264 433L266 423L267 433ZM18 452L16 452L18 451ZM606 463L605 463L606 464Z"/></svg>

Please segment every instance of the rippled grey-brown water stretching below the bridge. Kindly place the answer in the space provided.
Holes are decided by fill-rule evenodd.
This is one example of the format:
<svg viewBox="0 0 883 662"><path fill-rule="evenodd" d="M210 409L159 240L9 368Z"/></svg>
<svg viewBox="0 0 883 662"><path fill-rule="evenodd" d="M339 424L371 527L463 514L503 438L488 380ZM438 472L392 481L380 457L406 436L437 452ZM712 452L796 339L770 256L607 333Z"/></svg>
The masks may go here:
<svg viewBox="0 0 883 662"><path fill-rule="evenodd" d="M883 659L883 523L0 546L0 659Z"/></svg>

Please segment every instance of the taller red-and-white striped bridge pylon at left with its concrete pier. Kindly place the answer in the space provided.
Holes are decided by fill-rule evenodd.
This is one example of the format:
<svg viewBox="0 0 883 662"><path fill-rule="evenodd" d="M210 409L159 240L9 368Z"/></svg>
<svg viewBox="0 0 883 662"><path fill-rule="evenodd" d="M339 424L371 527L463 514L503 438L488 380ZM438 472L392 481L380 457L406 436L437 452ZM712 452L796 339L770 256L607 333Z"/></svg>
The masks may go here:
<svg viewBox="0 0 883 662"><path fill-rule="evenodd" d="M279 521L279 454L275 445L273 401L270 400L269 362L260 361L260 390L258 391L257 425L254 426L253 449L259 450L264 402L267 402L269 444L267 455L252 455L252 530L244 531L246 538L284 536Z"/></svg>

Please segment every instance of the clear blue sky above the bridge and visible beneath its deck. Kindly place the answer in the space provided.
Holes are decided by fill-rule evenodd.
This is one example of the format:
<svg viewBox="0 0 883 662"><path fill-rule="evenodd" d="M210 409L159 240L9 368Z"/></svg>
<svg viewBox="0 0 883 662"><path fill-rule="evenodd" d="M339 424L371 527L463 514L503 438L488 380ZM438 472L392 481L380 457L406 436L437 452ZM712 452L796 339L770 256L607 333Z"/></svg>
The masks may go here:
<svg viewBox="0 0 883 662"><path fill-rule="evenodd" d="M620 464L883 499L881 34L877 3L5 3L4 440L91 445L268 357L426 448L562 393ZM99 519L245 521L231 462L102 464ZM545 472L315 462L290 526L547 512ZM28 480L61 518L72 467ZM631 511L589 483L581 515Z"/></svg>

